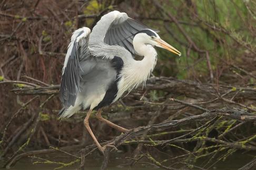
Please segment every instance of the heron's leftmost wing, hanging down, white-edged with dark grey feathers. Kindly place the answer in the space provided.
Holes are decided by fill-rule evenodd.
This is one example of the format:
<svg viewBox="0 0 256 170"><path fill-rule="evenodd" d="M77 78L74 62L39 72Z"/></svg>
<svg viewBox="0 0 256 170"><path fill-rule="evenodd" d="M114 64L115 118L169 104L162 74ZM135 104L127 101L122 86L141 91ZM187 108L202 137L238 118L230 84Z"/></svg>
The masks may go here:
<svg viewBox="0 0 256 170"><path fill-rule="evenodd" d="M87 42L90 33L91 30L86 27L75 30L68 45L60 88L60 99L64 108L74 106L77 92L80 90L80 61L88 56Z"/></svg>

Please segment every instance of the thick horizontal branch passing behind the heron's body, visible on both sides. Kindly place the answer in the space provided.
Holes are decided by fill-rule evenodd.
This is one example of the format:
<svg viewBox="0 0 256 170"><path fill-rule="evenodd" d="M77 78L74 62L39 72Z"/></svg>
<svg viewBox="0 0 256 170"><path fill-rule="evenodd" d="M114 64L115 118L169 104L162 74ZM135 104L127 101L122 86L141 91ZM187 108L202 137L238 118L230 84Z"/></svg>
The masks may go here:
<svg viewBox="0 0 256 170"><path fill-rule="evenodd" d="M232 88L236 91L244 91L238 93L236 98L247 98L247 99L256 99L256 89L248 87L231 87L217 84L208 84L208 83L198 83L191 80L177 80L174 78L167 77L152 77L147 80L146 90L163 90L170 92L171 94L180 94L185 95L186 97L194 99L211 99L216 98L215 87L219 88L220 93L226 93ZM54 85L50 87L37 87L37 88L18 88L11 91L15 92L18 95L48 95L48 94L57 94L59 91L60 85ZM231 91L227 97L232 97L236 91Z"/></svg>

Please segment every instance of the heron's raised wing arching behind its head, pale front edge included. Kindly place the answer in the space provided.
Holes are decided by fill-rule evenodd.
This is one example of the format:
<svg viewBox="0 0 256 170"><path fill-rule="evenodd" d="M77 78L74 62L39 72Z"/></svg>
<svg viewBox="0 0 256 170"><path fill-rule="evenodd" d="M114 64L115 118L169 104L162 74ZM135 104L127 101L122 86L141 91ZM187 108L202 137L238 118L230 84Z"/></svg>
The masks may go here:
<svg viewBox="0 0 256 170"><path fill-rule="evenodd" d="M128 17L126 13L120 13L115 10L102 16L93 27L92 34L90 35L89 46L92 55L104 55L106 58L113 58L111 55L102 54L102 50L99 50L99 47L102 48L104 46L103 44L124 47L134 55L133 38L137 32L143 29L150 28ZM109 47L106 46L106 48L108 49Z"/></svg>

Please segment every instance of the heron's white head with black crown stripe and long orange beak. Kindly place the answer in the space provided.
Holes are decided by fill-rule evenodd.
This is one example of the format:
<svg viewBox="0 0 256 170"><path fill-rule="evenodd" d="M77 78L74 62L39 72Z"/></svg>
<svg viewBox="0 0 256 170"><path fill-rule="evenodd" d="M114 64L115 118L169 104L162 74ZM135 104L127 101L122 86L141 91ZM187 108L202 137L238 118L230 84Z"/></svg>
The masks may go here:
<svg viewBox="0 0 256 170"><path fill-rule="evenodd" d="M150 44L152 46L156 46L156 47L160 47L160 48L165 48L171 52L173 52L176 55L181 56L181 52L178 51L177 49L175 49L174 47L172 47L170 44L168 44L167 42L165 42L164 40L162 40L160 38L160 36L151 29L143 29L139 32L137 32L133 38L133 44ZM136 50L137 48L137 50ZM136 51L139 51L140 47L135 47L134 49Z"/></svg>

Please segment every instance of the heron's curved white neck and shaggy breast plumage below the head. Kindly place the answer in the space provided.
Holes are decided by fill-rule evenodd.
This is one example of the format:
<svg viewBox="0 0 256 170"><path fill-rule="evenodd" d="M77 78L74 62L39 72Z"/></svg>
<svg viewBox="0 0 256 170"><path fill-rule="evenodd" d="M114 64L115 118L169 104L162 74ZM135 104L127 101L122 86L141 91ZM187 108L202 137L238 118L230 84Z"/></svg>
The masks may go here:
<svg viewBox="0 0 256 170"><path fill-rule="evenodd" d="M136 52L144 56L144 58L140 61L134 59L124 60L124 67L120 75L122 79L119 83L117 98L120 98L126 90L130 92L141 83L143 83L144 86L156 64L157 53L153 46L149 44L146 45L142 42L134 43L134 41L133 44Z"/></svg>

